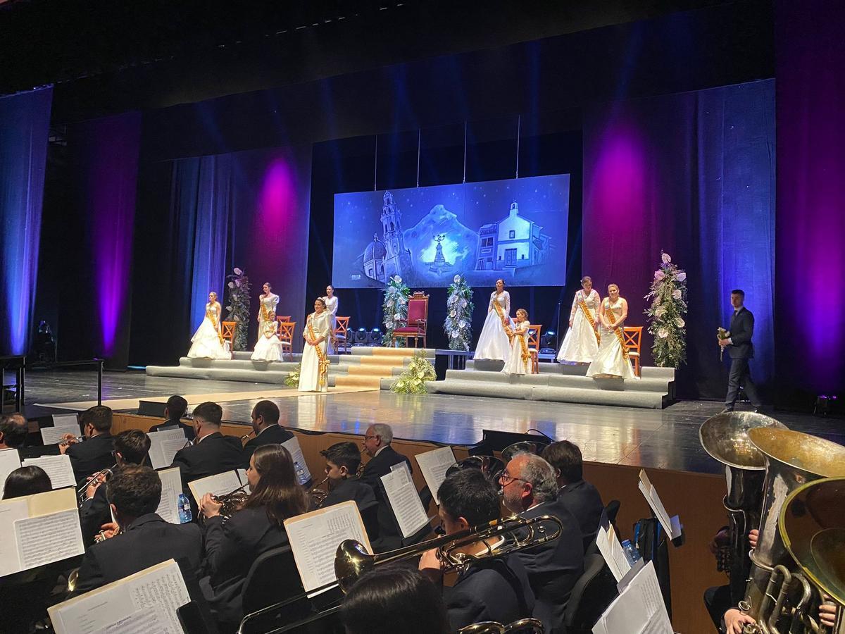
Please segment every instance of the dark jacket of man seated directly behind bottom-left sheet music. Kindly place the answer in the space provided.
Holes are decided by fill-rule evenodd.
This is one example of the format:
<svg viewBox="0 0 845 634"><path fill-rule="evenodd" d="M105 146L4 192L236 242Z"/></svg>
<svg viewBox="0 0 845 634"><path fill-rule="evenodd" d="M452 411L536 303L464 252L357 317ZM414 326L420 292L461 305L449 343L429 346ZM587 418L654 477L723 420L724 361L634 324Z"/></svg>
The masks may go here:
<svg viewBox="0 0 845 634"><path fill-rule="evenodd" d="M155 513L140 516L122 535L85 552L76 593L86 593L169 559L188 562L194 572L202 562L203 538L195 524L171 524Z"/></svg>

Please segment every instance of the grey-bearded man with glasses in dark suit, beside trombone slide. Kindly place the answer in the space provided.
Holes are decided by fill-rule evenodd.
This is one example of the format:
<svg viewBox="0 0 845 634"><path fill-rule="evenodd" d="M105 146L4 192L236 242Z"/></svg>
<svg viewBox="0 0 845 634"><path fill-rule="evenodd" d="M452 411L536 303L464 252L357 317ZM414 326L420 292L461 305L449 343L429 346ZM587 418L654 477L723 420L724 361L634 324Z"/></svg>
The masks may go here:
<svg viewBox="0 0 845 634"><path fill-rule="evenodd" d="M540 456L520 453L511 458L499 485L510 511L526 518L552 515L563 524L558 539L517 553L537 597L534 618L543 622L548 634L562 634L566 604L584 567L581 525L558 499L557 474Z"/></svg>

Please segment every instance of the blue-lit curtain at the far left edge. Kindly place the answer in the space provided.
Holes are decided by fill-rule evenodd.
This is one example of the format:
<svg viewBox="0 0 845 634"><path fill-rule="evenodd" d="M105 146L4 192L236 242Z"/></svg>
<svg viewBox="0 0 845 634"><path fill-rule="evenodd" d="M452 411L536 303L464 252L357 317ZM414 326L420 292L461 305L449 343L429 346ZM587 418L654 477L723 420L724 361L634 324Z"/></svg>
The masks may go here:
<svg viewBox="0 0 845 634"><path fill-rule="evenodd" d="M0 98L0 353L29 349L52 88Z"/></svg>

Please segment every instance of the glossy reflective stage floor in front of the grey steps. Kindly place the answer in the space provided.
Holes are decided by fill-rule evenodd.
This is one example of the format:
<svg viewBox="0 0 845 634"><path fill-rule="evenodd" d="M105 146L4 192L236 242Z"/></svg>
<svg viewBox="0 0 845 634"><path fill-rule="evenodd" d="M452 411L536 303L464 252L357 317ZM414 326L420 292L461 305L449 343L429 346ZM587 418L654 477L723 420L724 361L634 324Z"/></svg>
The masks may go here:
<svg viewBox="0 0 845 634"><path fill-rule="evenodd" d="M227 421L249 422L253 404L279 393L281 386L148 377L143 372L106 372L104 401L213 394ZM286 395L285 395L286 396ZM39 405L28 415L48 413L58 403L95 401L93 372L33 372L27 375L26 403ZM201 398L189 399L200 402ZM482 429L525 432L539 429L558 440L571 440L590 462L637 465L698 473L722 473L698 440L706 418L718 413L718 402L683 401L663 410L633 407L507 400L441 394L396 395L362 391L327 395L273 396L280 423L300 429L362 434L371 423L389 423L398 438L472 445ZM106 404L108 404L106 402ZM117 403L116 403L117 405ZM45 408L46 407L46 408ZM771 413L790 429L845 444L845 425L837 418Z"/></svg>

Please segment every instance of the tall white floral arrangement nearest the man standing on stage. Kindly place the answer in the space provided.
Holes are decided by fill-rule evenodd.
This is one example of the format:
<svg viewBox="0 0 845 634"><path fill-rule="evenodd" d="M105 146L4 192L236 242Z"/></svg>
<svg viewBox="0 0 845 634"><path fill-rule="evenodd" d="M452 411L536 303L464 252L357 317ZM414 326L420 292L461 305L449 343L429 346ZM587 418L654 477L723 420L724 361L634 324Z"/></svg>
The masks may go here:
<svg viewBox="0 0 845 634"><path fill-rule="evenodd" d="M651 357L662 368L678 368L686 361L686 271L672 264L668 253L661 252L660 268L654 271L651 291L646 299L648 331L654 336Z"/></svg>

